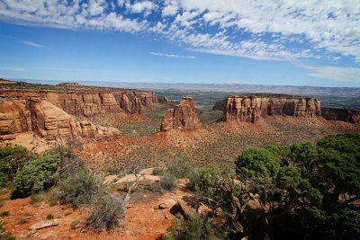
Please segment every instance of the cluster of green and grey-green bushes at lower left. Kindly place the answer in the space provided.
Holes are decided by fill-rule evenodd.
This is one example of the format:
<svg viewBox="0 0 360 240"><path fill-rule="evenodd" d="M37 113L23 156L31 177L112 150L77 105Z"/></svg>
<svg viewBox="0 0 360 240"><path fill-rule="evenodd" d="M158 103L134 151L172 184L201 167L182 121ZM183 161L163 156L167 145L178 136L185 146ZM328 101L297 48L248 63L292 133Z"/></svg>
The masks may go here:
<svg viewBox="0 0 360 240"><path fill-rule="evenodd" d="M120 226L131 191L115 197L103 185L101 177L73 153L71 146L57 147L43 156L33 155L23 147L2 147L0 152L4 156L2 173L8 173L10 166L6 163L12 164L14 169L4 178L4 184L12 191L12 199L31 196L34 204L43 200L42 192L49 191L50 205L59 202L89 209L88 227L102 230ZM18 165L14 165L14 159L19 159ZM134 182L130 188L136 184ZM6 214L3 212L2 217L9 212ZM50 220L54 216L49 214L46 218Z"/></svg>

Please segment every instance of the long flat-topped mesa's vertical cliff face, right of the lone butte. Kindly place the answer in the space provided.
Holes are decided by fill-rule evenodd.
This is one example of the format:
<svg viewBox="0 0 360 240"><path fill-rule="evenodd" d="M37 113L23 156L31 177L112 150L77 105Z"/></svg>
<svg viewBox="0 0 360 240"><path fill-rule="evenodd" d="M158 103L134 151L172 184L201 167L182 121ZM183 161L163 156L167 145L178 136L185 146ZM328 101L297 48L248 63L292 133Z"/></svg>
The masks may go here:
<svg viewBox="0 0 360 240"><path fill-rule="evenodd" d="M234 95L217 102L214 110L222 105L225 121L256 122L266 116L316 117L321 115L318 99L288 95Z"/></svg>

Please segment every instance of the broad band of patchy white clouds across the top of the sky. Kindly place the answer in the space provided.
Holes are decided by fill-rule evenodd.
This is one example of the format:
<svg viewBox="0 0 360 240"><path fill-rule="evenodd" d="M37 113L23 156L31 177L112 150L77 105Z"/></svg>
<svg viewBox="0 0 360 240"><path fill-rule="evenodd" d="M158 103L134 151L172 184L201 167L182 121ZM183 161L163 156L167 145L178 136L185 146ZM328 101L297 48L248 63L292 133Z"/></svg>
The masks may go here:
<svg viewBox="0 0 360 240"><path fill-rule="evenodd" d="M0 20L8 22L157 32L186 49L245 58L357 63L359 13L353 0L0 0Z"/></svg>

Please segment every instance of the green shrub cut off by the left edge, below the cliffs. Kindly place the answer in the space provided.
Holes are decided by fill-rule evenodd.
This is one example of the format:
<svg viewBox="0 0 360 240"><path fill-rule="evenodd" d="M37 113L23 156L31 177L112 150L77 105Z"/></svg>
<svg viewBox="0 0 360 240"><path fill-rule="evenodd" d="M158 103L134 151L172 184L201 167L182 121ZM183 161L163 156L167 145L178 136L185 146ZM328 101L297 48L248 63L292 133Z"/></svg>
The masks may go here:
<svg viewBox="0 0 360 240"><path fill-rule="evenodd" d="M14 175L33 155L25 147L0 147L0 187L12 181Z"/></svg>

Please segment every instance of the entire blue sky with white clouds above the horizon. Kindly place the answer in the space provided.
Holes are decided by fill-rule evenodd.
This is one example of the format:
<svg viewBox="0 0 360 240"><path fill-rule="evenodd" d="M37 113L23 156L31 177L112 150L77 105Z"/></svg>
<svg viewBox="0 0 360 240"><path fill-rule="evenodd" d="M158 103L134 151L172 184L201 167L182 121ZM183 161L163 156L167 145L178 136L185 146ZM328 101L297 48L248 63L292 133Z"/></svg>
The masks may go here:
<svg viewBox="0 0 360 240"><path fill-rule="evenodd" d="M360 87L357 1L0 0L0 77Z"/></svg>

